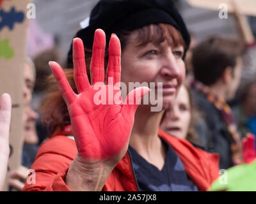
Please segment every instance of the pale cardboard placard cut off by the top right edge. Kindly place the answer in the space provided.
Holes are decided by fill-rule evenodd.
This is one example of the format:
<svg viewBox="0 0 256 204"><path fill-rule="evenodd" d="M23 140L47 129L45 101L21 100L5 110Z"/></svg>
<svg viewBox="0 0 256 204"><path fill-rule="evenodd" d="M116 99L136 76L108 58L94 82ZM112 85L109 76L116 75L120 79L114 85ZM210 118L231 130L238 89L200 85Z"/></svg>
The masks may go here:
<svg viewBox="0 0 256 204"><path fill-rule="evenodd" d="M194 7L218 11L221 10L221 4L227 4L228 12L232 13L234 11L232 1L235 1L237 8L244 15L256 16L255 0L188 0L188 3Z"/></svg>

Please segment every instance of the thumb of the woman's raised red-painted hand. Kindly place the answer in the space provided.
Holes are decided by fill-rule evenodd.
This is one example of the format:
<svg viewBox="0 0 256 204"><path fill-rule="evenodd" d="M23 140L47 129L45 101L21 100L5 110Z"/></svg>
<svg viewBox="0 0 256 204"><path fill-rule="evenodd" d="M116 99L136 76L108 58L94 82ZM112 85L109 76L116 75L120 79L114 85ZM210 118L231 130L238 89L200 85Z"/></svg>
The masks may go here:
<svg viewBox="0 0 256 204"><path fill-rule="evenodd" d="M138 105L140 105L141 98L150 91L151 89L148 87L138 87L129 92L121 110L122 115L134 115Z"/></svg>

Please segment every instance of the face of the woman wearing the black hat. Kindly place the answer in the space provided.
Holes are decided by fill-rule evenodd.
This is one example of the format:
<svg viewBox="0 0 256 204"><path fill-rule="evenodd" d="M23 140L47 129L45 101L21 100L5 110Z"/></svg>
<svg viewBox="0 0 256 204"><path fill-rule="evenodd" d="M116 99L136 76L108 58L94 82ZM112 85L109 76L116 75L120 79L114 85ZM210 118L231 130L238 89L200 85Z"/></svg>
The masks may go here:
<svg viewBox="0 0 256 204"><path fill-rule="evenodd" d="M136 43L132 42L131 36L131 43L122 52L121 81L127 87L129 87L129 82L139 82L140 84L147 82L148 85L150 82L154 82L156 85L157 82L162 82L163 97L157 98L157 101L163 100L163 109L168 110L185 77L183 54L184 48L181 45L172 48L166 40L157 45L148 43L138 47ZM157 87L155 88L157 89Z"/></svg>

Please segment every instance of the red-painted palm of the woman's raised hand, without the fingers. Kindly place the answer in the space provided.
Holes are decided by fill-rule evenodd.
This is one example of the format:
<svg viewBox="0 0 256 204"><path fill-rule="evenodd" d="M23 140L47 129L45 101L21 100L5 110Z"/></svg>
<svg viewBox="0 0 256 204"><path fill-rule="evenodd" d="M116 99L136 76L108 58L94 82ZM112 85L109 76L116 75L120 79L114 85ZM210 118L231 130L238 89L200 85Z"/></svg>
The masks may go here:
<svg viewBox="0 0 256 204"><path fill-rule="evenodd" d="M115 156L127 146L129 135L123 136L120 130L129 133L133 120L129 115L123 117L122 104L95 105L90 97L94 94L92 87L82 92L68 109L80 154L104 159Z"/></svg>

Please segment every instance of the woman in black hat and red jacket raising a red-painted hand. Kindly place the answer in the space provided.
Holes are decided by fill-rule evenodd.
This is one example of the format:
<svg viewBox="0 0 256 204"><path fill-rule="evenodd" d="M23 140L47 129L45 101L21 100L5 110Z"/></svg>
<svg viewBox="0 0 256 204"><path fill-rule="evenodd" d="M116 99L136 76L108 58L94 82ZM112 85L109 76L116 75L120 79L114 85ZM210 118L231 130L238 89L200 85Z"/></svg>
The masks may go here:
<svg viewBox="0 0 256 204"><path fill-rule="evenodd" d="M167 0L99 1L90 19L90 25L77 33L84 45L79 38L73 42L74 82L79 94L75 93L72 81L71 86L68 84L60 66L56 62L49 63L67 103L72 129L70 126L57 129L58 119L52 124L57 131L40 147L31 167L36 171L36 184L27 184L24 190L206 190L218 177L218 156L159 131L163 111L150 112L154 105L140 105L136 111L140 98L148 97L148 87L134 89L124 102L122 98L115 98L114 104L95 105L94 101L95 86L99 84L108 90L107 98L114 98L116 94L121 95L119 85L114 87L120 79L127 87L129 82L163 82L163 89L159 88L163 97L157 100L163 100L163 107L169 108L169 101L174 101L184 80L182 57L189 45L188 31L173 4ZM95 31L97 27L106 31L107 38L111 36L106 54L109 57L106 85L102 83L106 39L104 31ZM120 41L111 33L121 38L122 61ZM90 52L90 48L93 48L92 61L86 62L90 63L92 85L84 62L84 50ZM88 63L86 65L88 68ZM155 92L156 87L152 91ZM53 110L50 111L52 116L59 114L61 108L65 109L63 103L54 105L50 99L47 110ZM65 120L67 109L60 115L64 126L65 121L68 123ZM70 139L73 135L76 143ZM170 163L169 156L173 158ZM153 174L143 175L145 169L140 161L146 167L151 165L168 183L157 184L150 179ZM179 168L180 175L171 174L166 166L172 170ZM148 170L151 172L152 168Z"/></svg>

